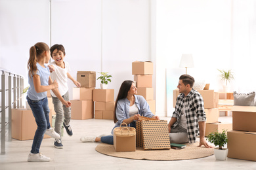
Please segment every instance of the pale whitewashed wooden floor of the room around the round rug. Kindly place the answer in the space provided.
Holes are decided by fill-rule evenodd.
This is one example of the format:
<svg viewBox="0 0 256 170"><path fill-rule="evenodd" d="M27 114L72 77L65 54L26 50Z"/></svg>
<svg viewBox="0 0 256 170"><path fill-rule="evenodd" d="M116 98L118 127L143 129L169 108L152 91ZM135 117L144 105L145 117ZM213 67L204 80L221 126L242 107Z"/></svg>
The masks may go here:
<svg viewBox="0 0 256 170"><path fill-rule="evenodd" d="M170 118L161 118L170 120ZM232 122L231 116L222 116L221 122ZM95 151L98 143L81 143L82 135L110 134L112 120L72 120L74 135L64 132L63 149L54 148L54 139L43 139L40 152L51 158L46 163L28 162L32 146L30 141L6 142L6 154L0 155L0 169L256 169L255 161L216 161L214 156L183 161L130 160L106 156Z"/></svg>

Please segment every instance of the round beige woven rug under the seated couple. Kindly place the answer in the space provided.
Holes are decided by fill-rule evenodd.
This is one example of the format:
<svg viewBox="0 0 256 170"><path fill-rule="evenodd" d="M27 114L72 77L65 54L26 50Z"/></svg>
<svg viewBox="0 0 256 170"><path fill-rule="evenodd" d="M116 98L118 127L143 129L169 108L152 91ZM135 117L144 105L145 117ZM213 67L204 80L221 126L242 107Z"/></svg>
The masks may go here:
<svg viewBox="0 0 256 170"><path fill-rule="evenodd" d="M143 150L143 148L136 148L135 152L116 152L114 145L100 143L96 146L95 150L101 154L119 158L158 161L192 160L214 154L214 148L205 148L204 146L198 147L198 143L187 144L186 148L179 150Z"/></svg>

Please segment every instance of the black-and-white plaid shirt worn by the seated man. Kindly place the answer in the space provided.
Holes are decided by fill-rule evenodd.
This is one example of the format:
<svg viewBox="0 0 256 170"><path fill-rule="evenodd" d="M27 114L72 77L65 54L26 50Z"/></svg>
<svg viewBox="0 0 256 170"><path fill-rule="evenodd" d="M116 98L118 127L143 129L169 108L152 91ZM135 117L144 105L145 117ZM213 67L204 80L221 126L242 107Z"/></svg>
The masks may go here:
<svg viewBox="0 0 256 170"><path fill-rule="evenodd" d="M198 122L205 122L206 116L203 107L203 97L200 93L192 89L186 97L181 93L177 97L173 118L177 118L177 122L171 126L176 127L181 121L181 110L185 108L186 127L188 132L189 143L196 143L196 137L199 135Z"/></svg>

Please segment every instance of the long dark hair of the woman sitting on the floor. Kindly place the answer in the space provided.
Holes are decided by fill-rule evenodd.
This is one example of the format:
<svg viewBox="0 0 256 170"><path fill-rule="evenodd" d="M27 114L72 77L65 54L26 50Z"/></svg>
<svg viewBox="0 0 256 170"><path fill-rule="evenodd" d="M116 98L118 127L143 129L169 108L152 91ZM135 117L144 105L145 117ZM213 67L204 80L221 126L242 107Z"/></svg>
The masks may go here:
<svg viewBox="0 0 256 170"><path fill-rule="evenodd" d="M131 84L133 84L133 81L131 80L125 80L119 89L118 95L116 97L116 103L115 103L115 113L114 113L114 122L116 124L117 122L117 118L116 118L116 106L117 106L117 101L119 101L119 99L123 99L125 97L127 97L127 94L131 88Z"/></svg>

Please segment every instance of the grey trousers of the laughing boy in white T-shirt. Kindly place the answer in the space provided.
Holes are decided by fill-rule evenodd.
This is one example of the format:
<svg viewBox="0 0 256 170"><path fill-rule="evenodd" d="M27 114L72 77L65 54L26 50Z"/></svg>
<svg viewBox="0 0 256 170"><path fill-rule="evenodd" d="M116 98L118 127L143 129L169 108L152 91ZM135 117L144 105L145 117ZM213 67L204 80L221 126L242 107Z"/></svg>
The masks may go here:
<svg viewBox="0 0 256 170"><path fill-rule="evenodd" d="M68 92L62 95L62 97L66 101L70 100ZM52 96L52 98L53 98L54 111L56 112L54 130L56 131L56 133L61 135L63 114L64 114L64 122L68 126L70 124L70 119L71 119L71 110L70 110L70 107L66 107L65 105L62 105L61 101L57 97Z"/></svg>

